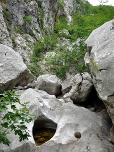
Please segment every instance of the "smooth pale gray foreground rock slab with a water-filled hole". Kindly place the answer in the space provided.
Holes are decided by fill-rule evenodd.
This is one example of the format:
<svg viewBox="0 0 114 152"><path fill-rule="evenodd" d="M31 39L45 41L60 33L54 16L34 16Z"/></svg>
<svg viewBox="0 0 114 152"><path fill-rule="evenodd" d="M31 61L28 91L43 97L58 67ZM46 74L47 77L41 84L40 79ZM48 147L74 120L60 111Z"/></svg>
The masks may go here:
<svg viewBox="0 0 114 152"><path fill-rule="evenodd" d="M108 141L109 123L101 116L72 103L61 102L55 96L42 90L28 89L21 93L20 99L22 103L30 101L27 108L31 114L36 115L39 119L43 116L42 121L45 122L49 122L50 119L53 122L52 125L57 124L56 133L48 142L35 147L32 136L34 122L31 122L27 124L32 136L29 137L29 140L19 142L18 136L11 133L8 135L11 141L10 147L1 144L0 152L114 151L114 146ZM40 126L40 123L36 124L39 124L38 127ZM34 128L37 129L37 126Z"/></svg>

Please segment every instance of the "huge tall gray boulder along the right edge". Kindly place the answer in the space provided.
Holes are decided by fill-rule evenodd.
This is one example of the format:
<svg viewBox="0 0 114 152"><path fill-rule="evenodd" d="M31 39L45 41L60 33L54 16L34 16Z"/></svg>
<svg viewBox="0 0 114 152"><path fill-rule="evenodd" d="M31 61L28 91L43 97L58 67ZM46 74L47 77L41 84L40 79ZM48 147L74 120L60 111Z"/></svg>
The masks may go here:
<svg viewBox="0 0 114 152"><path fill-rule="evenodd" d="M95 89L114 125L114 20L95 29L86 40L85 63L88 66ZM114 142L114 129L111 135Z"/></svg>

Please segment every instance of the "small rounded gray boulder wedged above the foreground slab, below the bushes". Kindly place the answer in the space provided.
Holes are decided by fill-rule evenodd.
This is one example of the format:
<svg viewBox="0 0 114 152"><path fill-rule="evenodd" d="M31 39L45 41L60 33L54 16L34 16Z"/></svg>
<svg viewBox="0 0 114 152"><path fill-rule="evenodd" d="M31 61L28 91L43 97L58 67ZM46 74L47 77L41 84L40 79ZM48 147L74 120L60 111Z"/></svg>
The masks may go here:
<svg viewBox="0 0 114 152"><path fill-rule="evenodd" d="M37 78L36 88L44 90L51 95L61 94L61 83L56 75L45 74Z"/></svg>

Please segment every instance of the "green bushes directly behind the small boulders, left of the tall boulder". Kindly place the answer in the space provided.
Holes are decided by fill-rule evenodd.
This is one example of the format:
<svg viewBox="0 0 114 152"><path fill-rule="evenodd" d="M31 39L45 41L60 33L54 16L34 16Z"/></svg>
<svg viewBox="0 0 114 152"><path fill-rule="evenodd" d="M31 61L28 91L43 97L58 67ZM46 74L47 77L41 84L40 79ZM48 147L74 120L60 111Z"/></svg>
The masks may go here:
<svg viewBox="0 0 114 152"><path fill-rule="evenodd" d="M59 78L64 79L67 72L72 74L87 71L84 64L86 46L83 40L80 40L79 46L75 45L74 49L70 52L67 46L59 46L57 50L59 52L57 51L57 54L51 58L48 64L54 65L51 70L56 73Z"/></svg>

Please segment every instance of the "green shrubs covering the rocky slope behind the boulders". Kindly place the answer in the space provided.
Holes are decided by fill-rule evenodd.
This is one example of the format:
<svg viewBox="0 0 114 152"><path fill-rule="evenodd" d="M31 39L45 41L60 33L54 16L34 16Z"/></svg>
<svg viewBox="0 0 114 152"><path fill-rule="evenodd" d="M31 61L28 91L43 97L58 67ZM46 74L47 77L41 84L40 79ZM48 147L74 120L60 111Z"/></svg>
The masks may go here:
<svg viewBox="0 0 114 152"><path fill-rule="evenodd" d="M54 33L45 34L43 40L35 43L34 53L31 57L32 68L29 67L29 69L32 72L34 71L33 74L36 76L38 76L39 73L43 73L42 69L40 69L40 67L38 68L38 65L43 55L48 51L56 52L55 56L52 56L49 60L47 59L48 62L46 64L51 66L50 72L56 74L58 77L64 79L66 73L72 74L79 71L87 71L84 64L84 55L86 52L84 41L94 29L113 19L114 7L105 5L92 6L89 2L83 3L78 0L76 0L76 2L79 8L72 14L73 19L70 25L68 25L65 16L56 16ZM63 3L61 2L59 5L62 6ZM64 29L67 30L69 34L66 34ZM45 31L46 29L43 33L46 33ZM60 41L64 41L64 39L70 41L69 45L76 43L77 40L80 42L79 45L73 45L72 51L69 51L68 45L62 46L60 43Z"/></svg>

